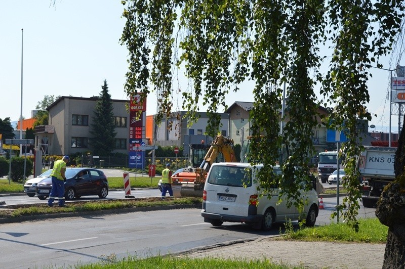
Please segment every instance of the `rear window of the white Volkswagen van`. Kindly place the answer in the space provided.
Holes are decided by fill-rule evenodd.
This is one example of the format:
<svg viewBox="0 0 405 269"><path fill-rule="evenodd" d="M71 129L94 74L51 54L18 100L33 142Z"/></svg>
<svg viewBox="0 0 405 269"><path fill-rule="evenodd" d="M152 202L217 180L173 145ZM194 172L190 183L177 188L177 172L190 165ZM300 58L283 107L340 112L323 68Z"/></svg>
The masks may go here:
<svg viewBox="0 0 405 269"><path fill-rule="evenodd" d="M207 182L213 185L250 187L252 176L244 167L216 165L211 167Z"/></svg>

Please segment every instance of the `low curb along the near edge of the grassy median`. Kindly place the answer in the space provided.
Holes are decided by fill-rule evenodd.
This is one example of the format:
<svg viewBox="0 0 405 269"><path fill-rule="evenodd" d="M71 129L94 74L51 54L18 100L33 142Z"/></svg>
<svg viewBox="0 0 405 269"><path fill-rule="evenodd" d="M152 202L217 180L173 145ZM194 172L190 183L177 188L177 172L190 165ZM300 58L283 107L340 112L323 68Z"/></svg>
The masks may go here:
<svg viewBox="0 0 405 269"><path fill-rule="evenodd" d="M35 220L43 220L43 219L48 219L48 218L96 216L96 215L121 214L121 213L131 213L131 212L146 212L146 211L183 209L183 208L201 208L201 204L163 205L163 206L153 206L153 207L134 207L134 208L107 209L107 210L97 210L97 211L63 212L63 213L31 215L31 216L21 216L21 217L0 217L0 224L14 223L14 222L21 222L21 221L28 221L28 220L35 221Z"/></svg>

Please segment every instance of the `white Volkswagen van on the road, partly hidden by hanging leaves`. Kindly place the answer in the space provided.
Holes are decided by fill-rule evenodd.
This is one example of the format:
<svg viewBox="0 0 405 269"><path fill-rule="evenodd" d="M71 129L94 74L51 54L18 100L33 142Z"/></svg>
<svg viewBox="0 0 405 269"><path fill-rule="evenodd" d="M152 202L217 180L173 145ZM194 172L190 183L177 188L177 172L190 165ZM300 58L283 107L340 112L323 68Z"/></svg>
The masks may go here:
<svg viewBox="0 0 405 269"><path fill-rule="evenodd" d="M305 219L306 226L314 226L318 216L318 196L312 189L301 192L305 199L304 211L300 214L298 208L287 207L286 199L280 204L278 191L273 189L271 199L267 196L258 198L256 173L262 165L251 167L252 173L245 176L245 168L249 163L214 163L207 175L203 193L203 209L201 216L205 222L213 226L221 226L224 221L245 222L253 228L268 231L274 222ZM275 172L281 172L278 166Z"/></svg>

